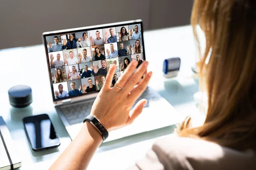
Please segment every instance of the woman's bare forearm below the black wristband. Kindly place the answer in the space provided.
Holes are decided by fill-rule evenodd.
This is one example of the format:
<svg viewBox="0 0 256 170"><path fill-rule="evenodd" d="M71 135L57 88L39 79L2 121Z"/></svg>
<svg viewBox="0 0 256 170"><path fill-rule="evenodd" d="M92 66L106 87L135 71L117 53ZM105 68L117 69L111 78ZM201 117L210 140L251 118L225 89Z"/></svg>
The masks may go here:
<svg viewBox="0 0 256 170"><path fill-rule="evenodd" d="M52 164L50 170L86 169L102 140L95 127L90 122L84 122L79 134Z"/></svg>

